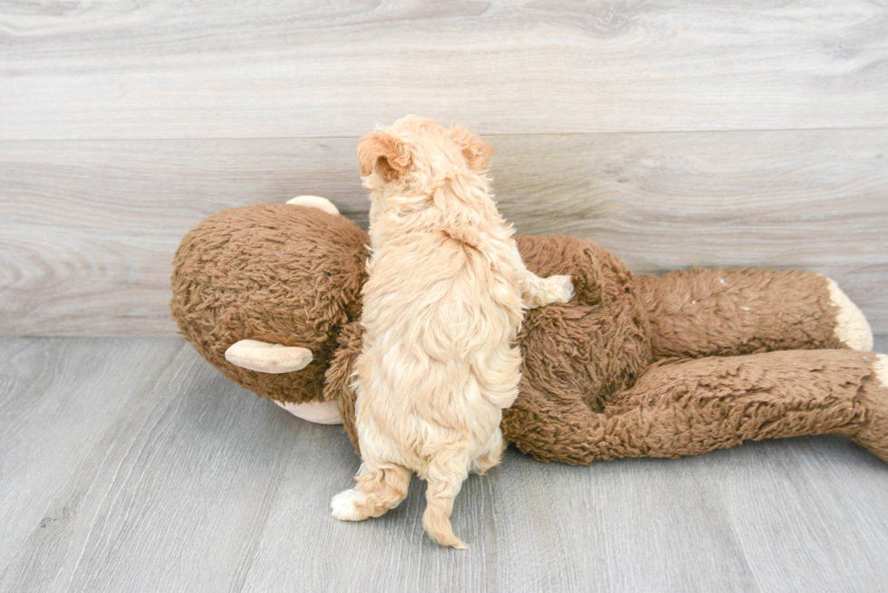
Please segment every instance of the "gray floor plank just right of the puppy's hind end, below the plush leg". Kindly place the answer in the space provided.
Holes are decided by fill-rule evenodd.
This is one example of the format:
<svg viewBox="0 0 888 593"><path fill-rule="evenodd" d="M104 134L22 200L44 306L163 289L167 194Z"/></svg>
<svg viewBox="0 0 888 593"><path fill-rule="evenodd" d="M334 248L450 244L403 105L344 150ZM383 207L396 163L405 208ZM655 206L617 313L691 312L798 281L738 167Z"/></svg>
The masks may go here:
<svg viewBox="0 0 888 593"><path fill-rule="evenodd" d="M758 590L702 458L538 468L515 454L498 477L503 590Z"/></svg>

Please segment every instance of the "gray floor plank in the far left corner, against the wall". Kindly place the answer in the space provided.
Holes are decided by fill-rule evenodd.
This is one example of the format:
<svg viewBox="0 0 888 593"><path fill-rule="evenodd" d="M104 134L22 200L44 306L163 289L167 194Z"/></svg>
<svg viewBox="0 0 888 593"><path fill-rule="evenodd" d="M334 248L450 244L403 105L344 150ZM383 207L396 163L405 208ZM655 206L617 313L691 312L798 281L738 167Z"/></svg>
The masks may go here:
<svg viewBox="0 0 888 593"><path fill-rule="evenodd" d="M179 343L146 339L0 341L0 567L101 435L120 421Z"/></svg>

